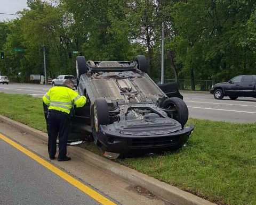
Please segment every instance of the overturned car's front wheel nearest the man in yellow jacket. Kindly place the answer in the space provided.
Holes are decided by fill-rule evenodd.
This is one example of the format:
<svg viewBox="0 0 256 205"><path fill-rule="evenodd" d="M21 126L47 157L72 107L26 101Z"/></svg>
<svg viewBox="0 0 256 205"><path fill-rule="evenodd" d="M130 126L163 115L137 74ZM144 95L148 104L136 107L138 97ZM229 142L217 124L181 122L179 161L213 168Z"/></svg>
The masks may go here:
<svg viewBox="0 0 256 205"><path fill-rule="evenodd" d="M95 142L98 141L98 132L100 125L109 124L108 104L105 99L97 99L91 106L91 127Z"/></svg>

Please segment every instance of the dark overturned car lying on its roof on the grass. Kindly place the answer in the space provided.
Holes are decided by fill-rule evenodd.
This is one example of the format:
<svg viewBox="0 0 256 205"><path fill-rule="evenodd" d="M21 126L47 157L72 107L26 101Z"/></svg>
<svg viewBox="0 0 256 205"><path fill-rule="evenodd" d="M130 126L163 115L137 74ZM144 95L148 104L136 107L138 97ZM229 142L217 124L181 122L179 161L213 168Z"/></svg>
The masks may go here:
<svg viewBox="0 0 256 205"><path fill-rule="evenodd" d="M179 149L194 127L185 127L188 108L175 84L157 86L146 73L145 56L134 61L86 61L77 56L79 95L73 125L91 132L108 158Z"/></svg>

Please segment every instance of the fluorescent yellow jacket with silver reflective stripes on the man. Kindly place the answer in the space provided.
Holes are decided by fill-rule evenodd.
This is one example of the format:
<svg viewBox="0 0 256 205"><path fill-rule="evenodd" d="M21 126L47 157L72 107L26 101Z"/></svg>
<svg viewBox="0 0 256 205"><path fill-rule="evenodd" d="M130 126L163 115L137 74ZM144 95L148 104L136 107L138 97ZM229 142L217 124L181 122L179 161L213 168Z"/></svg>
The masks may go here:
<svg viewBox="0 0 256 205"><path fill-rule="evenodd" d="M43 101L49 106L48 109L54 109L69 114L73 105L83 107L86 103L86 97L79 96L78 93L71 88L54 86L45 93Z"/></svg>

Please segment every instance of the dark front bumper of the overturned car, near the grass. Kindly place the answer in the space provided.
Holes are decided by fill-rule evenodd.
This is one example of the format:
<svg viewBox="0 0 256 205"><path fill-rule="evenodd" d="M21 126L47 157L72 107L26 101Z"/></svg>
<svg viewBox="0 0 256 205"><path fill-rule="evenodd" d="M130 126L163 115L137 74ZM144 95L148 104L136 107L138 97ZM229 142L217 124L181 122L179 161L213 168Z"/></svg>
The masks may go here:
<svg viewBox="0 0 256 205"><path fill-rule="evenodd" d="M193 127L161 135L126 135L110 132L100 126L98 141L102 151L113 153L148 153L171 150L183 146L191 135Z"/></svg>

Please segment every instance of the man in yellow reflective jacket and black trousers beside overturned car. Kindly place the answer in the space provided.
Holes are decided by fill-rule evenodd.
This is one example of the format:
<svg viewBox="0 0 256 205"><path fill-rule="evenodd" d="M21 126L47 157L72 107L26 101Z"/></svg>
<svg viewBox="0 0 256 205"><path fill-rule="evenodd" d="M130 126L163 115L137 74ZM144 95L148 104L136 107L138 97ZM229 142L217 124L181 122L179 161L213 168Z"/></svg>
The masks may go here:
<svg viewBox="0 0 256 205"><path fill-rule="evenodd" d="M47 112L48 152L50 159L55 159L57 137L59 136L58 161L68 161L67 139L69 133L70 110L74 105L83 107L86 103L84 96L79 96L73 90L74 82L67 79L62 86L52 87L43 96L43 103L49 106Z"/></svg>

